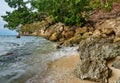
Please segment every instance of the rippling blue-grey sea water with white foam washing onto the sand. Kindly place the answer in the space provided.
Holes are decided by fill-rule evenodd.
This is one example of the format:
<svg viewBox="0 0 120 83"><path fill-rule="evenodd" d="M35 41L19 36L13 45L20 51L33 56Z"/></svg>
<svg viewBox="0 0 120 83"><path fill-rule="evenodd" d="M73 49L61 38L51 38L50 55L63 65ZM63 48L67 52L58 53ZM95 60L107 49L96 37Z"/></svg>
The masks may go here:
<svg viewBox="0 0 120 83"><path fill-rule="evenodd" d="M0 83L31 83L47 64L77 52L77 47L56 49L56 43L33 36L0 36Z"/></svg>

